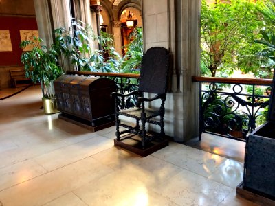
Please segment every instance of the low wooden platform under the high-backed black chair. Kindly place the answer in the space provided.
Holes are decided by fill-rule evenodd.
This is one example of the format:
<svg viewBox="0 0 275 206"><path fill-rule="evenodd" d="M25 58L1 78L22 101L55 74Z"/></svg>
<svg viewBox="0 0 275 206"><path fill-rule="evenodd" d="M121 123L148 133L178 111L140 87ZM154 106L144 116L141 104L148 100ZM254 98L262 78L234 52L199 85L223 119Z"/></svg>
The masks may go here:
<svg viewBox="0 0 275 206"><path fill-rule="evenodd" d="M128 150L142 157L151 155L153 152L156 152L157 150L160 150L169 145L168 139L165 138L162 141L152 141L151 144L148 144L143 150L140 137L138 135L130 134L120 139L120 141L114 139L115 146L119 146L124 150Z"/></svg>

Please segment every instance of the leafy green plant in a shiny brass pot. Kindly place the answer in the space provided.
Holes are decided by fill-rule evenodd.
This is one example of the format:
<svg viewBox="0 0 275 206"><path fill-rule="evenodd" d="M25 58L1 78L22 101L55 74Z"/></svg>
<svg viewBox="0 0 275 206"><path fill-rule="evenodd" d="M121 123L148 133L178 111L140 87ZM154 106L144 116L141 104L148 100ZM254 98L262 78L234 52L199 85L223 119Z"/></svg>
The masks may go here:
<svg viewBox="0 0 275 206"><path fill-rule="evenodd" d="M21 62L26 71L26 76L33 82L40 82L43 93L43 108L46 114L57 113L56 98L54 95L54 80L63 74L63 69L58 65L58 55L54 44L47 48L41 45L43 40L34 37L30 41L22 41L20 47L24 49L31 46L29 51L23 51Z"/></svg>

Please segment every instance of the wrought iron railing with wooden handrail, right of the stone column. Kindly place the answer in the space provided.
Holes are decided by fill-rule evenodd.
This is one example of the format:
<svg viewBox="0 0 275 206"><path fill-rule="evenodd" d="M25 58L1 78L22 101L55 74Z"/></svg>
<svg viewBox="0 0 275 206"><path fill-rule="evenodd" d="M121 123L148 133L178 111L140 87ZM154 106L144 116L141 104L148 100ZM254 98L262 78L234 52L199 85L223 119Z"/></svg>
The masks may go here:
<svg viewBox="0 0 275 206"><path fill-rule="evenodd" d="M266 121L272 80L192 77L200 85L201 133L245 141Z"/></svg>

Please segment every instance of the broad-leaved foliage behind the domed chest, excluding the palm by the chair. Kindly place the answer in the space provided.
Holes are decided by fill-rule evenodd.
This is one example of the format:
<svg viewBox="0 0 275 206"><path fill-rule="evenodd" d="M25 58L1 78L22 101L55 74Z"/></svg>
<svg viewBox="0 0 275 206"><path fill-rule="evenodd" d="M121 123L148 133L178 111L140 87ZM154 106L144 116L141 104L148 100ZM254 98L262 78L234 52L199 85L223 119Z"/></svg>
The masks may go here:
<svg viewBox="0 0 275 206"><path fill-rule="evenodd" d="M79 71L121 72L122 58L113 47L113 35L101 32L98 38L91 27L81 21L73 21L69 30L58 28L55 34L56 49L70 58ZM104 50L94 49L93 43L100 43ZM108 54L107 59L104 54Z"/></svg>

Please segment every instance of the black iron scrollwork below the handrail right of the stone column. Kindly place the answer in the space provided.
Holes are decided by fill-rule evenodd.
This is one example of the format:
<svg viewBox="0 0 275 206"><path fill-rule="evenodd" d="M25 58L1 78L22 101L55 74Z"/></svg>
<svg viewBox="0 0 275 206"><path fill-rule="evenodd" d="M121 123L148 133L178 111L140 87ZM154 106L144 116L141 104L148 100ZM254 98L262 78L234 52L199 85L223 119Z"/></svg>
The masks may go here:
<svg viewBox="0 0 275 206"><path fill-rule="evenodd" d="M231 84L232 85L232 84ZM208 84L208 90L201 89L201 133L209 132L245 141L247 135L256 128L256 119L263 115L261 108L267 108L270 87L265 95L245 93L241 84L234 84L223 90L219 84Z"/></svg>

